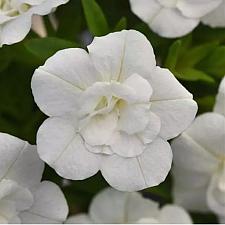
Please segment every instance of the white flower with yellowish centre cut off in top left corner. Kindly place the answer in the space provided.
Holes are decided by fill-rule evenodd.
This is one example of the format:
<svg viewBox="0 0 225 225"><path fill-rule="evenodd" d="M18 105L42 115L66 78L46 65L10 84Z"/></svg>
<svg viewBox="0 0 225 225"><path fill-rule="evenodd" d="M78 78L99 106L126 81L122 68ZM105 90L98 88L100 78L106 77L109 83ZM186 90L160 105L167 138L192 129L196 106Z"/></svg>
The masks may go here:
<svg viewBox="0 0 225 225"><path fill-rule="evenodd" d="M47 15L69 0L0 0L0 46L25 38L33 15Z"/></svg>

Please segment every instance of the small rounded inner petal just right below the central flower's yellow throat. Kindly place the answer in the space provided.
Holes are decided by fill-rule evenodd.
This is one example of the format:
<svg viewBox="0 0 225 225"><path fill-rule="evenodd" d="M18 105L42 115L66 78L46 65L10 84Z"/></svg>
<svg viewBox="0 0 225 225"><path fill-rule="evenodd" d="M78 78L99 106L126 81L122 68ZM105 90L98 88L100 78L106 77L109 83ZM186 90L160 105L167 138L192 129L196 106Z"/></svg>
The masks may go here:
<svg viewBox="0 0 225 225"><path fill-rule="evenodd" d="M149 123L150 104L125 105L120 108L118 128L127 134L143 131Z"/></svg>

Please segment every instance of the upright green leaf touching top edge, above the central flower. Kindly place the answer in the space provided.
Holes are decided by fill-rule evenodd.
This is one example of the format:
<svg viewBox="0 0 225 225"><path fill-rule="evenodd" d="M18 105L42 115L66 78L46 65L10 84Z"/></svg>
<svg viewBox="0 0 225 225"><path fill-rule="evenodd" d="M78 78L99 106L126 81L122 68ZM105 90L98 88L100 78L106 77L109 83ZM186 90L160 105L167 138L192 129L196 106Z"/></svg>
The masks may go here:
<svg viewBox="0 0 225 225"><path fill-rule="evenodd" d="M88 28L94 36L105 35L109 32L108 23L100 6L95 0L82 0Z"/></svg>

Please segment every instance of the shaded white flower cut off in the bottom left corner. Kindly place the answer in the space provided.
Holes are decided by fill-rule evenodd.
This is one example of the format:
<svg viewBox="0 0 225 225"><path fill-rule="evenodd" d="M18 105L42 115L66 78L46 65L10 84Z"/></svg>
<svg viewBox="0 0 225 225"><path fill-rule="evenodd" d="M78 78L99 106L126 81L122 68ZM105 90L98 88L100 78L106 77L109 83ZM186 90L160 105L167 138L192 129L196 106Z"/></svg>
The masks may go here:
<svg viewBox="0 0 225 225"><path fill-rule="evenodd" d="M52 182L40 183L44 163L36 147L0 133L0 223L62 223L65 197Z"/></svg>

